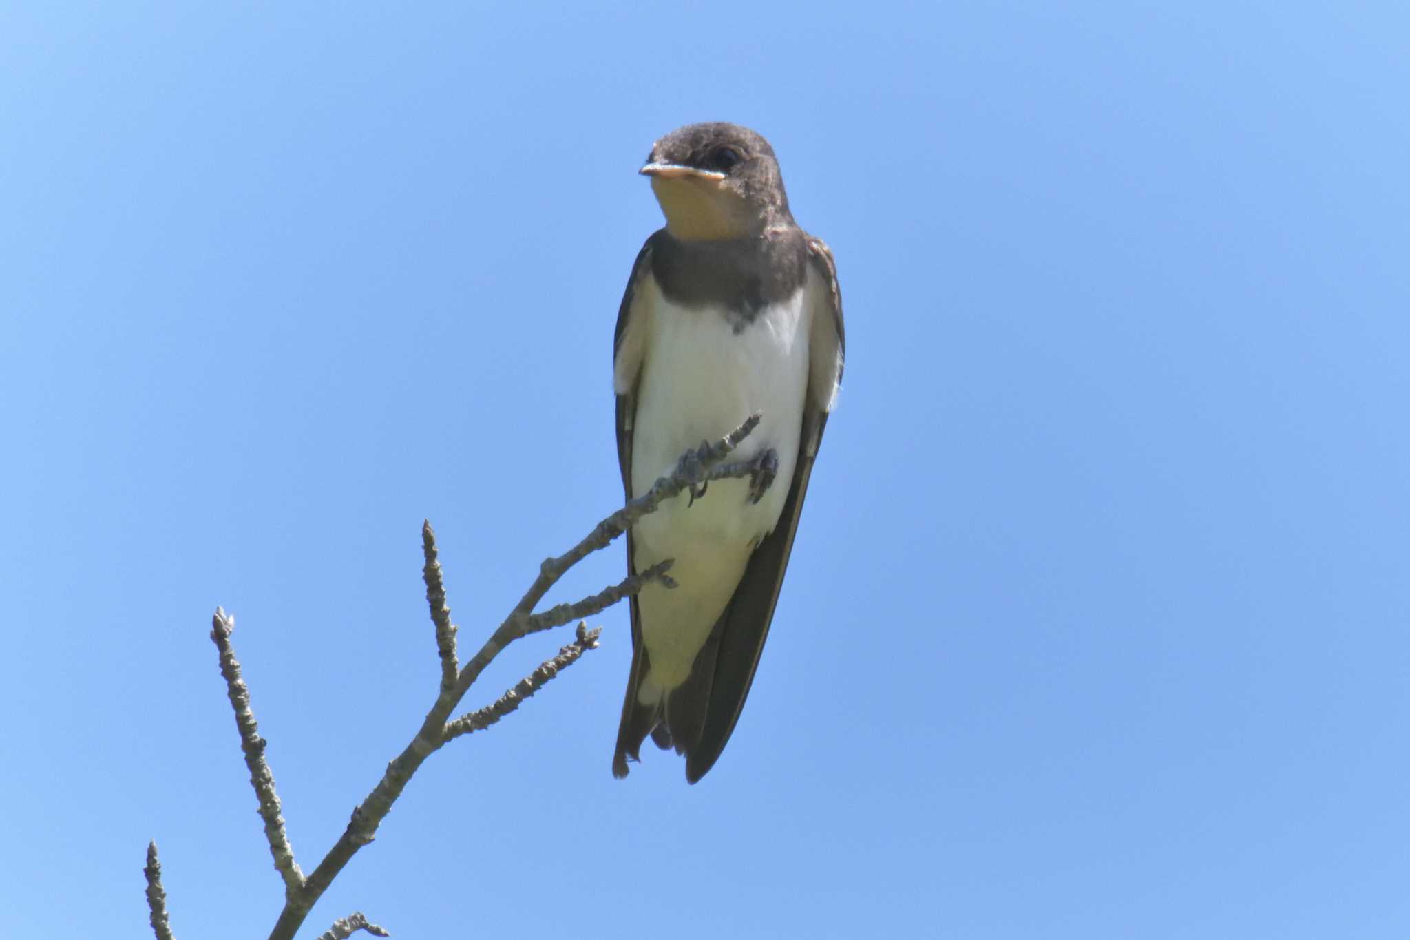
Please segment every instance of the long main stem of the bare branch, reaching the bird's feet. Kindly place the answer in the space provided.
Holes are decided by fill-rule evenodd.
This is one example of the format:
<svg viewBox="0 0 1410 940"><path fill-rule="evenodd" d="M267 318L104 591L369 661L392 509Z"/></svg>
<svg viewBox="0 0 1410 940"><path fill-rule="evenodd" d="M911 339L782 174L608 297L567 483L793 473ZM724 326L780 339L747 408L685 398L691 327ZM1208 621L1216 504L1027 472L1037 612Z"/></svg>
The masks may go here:
<svg viewBox="0 0 1410 940"><path fill-rule="evenodd" d="M455 684L450 688L441 682L440 693L434 705L422 720L422 727L410 743L388 765L382 779L376 782L372 792L367 795L361 805L352 810L343 834L329 850L298 891L286 892L283 910L279 920L269 933L269 940L292 940L293 934L309 916L309 910L317 903L323 892L329 889L333 879L348 864L354 854L371 843L376 836L378 826L391 812L392 803L402 795L406 782L420 768L427 757L434 754L446 743L446 722L451 712L465 698L465 692L474 685L479 674L484 672L501 650L525 636L525 629L533 614L533 609L543 600L543 596L572 565L587 558L594 551L608 547L627 528L634 526L643 516L656 512L667 499L680 495L691 486L704 482L725 479L726 476L747 476L754 472L754 465L749 461L719 466L730 452L759 426L759 414L752 414L737 428L715 443L702 443L698 448L681 455L675 469L656 481L643 496L626 503L602 521L582 538L557 558L546 559L539 568L539 576L525 592L523 598L508 617L495 629L494 634L479 647L474 657L465 662L455 676ZM434 548L434 534L430 527L422 530L423 543L429 541ZM657 574L661 578L663 572ZM618 585L620 588L622 585ZM637 589L640 586L637 585ZM612 590L609 588L609 590ZM623 595L625 596L625 595ZM591 599L588 599L591 600ZM434 617L434 614L433 614Z"/></svg>

